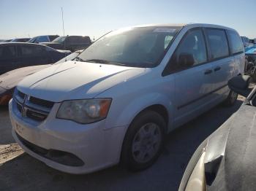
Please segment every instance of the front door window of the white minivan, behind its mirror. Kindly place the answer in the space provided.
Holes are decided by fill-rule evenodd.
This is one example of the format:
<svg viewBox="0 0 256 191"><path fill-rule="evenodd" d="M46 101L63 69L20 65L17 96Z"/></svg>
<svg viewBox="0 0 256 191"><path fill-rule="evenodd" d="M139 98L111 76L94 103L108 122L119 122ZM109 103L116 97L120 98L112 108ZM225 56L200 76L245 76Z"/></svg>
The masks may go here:
<svg viewBox="0 0 256 191"><path fill-rule="evenodd" d="M178 68L189 68L207 61L206 44L200 29L189 31L174 54ZM182 66L181 66L182 65Z"/></svg>

